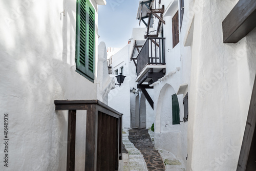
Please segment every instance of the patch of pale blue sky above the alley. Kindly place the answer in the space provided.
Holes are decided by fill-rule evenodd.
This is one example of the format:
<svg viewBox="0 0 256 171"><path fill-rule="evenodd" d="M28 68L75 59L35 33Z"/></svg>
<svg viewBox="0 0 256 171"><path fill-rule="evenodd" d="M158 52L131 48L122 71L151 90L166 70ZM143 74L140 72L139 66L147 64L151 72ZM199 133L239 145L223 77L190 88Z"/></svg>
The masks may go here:
<svg viewBox="0 0 256 171"><path fill-rule="evenodd" d="M99 42L106 47L123 48L132 36L132 30L139 26L136 19L140 0L106 0L105 6L98 6Z"/></svg>

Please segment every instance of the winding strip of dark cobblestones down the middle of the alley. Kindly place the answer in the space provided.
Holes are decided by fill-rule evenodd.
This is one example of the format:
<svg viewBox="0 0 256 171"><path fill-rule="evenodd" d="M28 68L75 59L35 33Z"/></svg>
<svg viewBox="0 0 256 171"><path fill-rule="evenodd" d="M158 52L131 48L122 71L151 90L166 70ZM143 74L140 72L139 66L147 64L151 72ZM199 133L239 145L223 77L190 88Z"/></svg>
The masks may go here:
<svg viewBox="0 0 256 171"><path fill-rule="evenodd" d="M154 148L154 144L151 141L150 135L148 135L147 129L130 129L129 140L143 155L148 171L165 170L163 160L158 151Z"/></svg>

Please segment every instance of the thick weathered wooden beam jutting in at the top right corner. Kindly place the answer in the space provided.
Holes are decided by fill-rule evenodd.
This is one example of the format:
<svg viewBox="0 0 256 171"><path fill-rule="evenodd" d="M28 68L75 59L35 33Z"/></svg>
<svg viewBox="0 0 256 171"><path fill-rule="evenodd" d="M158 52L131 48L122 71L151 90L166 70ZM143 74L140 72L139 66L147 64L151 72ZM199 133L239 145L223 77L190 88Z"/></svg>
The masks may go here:
<svg viewBox="0 0 256 171"><path fill-rule="evenodd" d="M256 1L240 0L222 22L223 42L236 43L256 27Z"/></svg>

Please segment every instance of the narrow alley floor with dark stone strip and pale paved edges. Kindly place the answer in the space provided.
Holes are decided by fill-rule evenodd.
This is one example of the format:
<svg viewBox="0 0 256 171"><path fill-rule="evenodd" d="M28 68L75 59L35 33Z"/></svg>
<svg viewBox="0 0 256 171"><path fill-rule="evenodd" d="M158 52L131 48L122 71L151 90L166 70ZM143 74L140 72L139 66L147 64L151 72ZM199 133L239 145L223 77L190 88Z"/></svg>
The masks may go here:
<svg viewBox="0 0 256 171"><path fill-rule="evenodd" d="M155 149L153 142L154 132L148 131L147 129L130 129L127 132L124 131L124 171L184 170L184 165L179 159L169 152Z"/></svg>

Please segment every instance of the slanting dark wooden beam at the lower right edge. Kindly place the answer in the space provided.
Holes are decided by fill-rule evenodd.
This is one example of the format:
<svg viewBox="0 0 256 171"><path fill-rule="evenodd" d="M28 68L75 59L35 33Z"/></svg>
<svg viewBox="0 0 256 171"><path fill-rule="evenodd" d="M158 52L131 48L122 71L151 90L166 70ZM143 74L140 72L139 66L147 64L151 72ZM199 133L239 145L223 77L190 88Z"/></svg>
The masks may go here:
<svg viewBox="0 0 256 171"><path fill-rule="evenodd" d="M254 80L254 86L251 95L251 101L249 106L249 112L247 117L247 122L244 131L244 138L242 142L242 147L240 151L240 157L238 160L238 167L237 171L245 171L245 170L254 170L255 169L255 153L251 154L250 149L254 146L255 151L255 144L252 144L253 139L255 141L255 124L256 124L256 77ZM254 136L253 136L254 135ZM249 169L251 165L248 166L248 161L252 160L253 169ZM251 162L249 162L250 164ZM248 167L248 168L247 168Z"/></svg>

